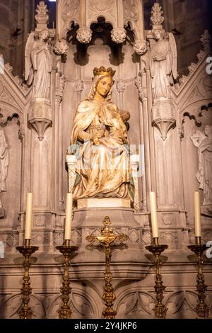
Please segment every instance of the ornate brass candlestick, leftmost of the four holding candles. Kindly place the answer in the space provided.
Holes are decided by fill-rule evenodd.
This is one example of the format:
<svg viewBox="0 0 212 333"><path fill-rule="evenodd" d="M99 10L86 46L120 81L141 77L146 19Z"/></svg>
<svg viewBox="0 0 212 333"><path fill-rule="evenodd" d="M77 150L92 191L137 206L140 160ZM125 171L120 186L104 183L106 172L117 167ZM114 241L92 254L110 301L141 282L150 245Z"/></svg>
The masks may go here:
<svg viewBox="0 0 212 333"><path fill-rule="evenodd" d="M23 276L23 287L20 289L22 295L22 306L18 315L20 319L31 319L33 315L33 310L29 307L28 303L30 301L30 294L32 293L32 288L30 287L30 274L29 269L31 265L30 256L39 249L39 247L32 247L30 245L30 239L25 239L25 245L23 247L16 247L18 252L23 254L25 257L23 261L24 276Z"/></svg>

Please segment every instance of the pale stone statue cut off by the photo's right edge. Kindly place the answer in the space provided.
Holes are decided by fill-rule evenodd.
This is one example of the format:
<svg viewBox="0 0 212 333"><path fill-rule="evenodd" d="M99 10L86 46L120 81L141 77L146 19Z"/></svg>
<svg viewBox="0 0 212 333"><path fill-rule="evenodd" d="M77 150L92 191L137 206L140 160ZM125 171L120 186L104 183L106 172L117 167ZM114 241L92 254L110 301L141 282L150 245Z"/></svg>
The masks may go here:
<svg viewBox="0 0 212 333"><path fill-rule="evenodd" d="M203 205L208 205L212 203L212 126L206 125L204 133L197 130L190 137L198 148L199 170L196 179L199 188L204 191Z"/></svg>

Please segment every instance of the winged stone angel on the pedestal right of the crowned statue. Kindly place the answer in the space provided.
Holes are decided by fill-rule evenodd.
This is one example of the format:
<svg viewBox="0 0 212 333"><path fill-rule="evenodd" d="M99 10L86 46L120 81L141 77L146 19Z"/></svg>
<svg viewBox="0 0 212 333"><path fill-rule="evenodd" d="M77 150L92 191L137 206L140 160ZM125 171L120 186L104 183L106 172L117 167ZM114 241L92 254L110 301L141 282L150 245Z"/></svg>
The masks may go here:
<svg viewBox="0 0 212 333"><path fill-rule="evenodd" d="M172 33L169 33L167 39L163 30L155 30L153 38L156 40L150 57L153 98L168 98L170 96L170 85L174 83L173 79L177 78L175 37Z"/></svg>

